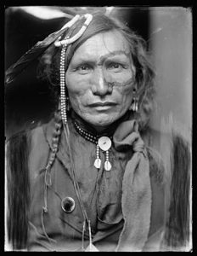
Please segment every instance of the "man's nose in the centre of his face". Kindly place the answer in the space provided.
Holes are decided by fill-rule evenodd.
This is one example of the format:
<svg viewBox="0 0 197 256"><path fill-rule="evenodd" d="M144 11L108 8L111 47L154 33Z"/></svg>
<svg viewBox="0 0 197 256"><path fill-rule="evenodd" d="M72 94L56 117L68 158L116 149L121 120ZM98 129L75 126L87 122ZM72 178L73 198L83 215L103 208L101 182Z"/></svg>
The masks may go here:
<svg viewBox="0 0 197 256"><path fill-rule="evenodd" d="M104 72L102 68L98 68L98 70L95 70L93 73L92 91L93 94L97 96L105 96L112 92L111 86L107 83L106 79L104 78Z"/></svg>

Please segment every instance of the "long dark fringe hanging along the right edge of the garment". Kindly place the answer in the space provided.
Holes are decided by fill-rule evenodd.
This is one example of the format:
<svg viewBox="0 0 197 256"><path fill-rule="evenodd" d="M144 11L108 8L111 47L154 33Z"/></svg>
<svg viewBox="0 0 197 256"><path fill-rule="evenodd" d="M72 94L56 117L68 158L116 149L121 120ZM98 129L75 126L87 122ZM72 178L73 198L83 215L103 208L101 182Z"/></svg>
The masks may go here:
<svg viewBox="0 0 197 256"><path fill-rule="evenodd" d="M172 134L172 183L165 247L185 250L190 239L190 151L183 137Z"/></svg>

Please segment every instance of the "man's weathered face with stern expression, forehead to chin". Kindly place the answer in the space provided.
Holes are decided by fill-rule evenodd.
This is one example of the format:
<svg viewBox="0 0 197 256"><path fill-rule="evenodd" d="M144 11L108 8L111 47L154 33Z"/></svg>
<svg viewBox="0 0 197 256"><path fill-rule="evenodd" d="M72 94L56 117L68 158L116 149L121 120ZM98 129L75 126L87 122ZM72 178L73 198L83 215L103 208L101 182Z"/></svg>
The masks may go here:
<svg viewBox="0 0 197 256"><path fill-rule="evenodd" d="M120 32L87 39L76 49L65 73L71 107L102 131L131 106L134 72L129 46Z"/></svg>

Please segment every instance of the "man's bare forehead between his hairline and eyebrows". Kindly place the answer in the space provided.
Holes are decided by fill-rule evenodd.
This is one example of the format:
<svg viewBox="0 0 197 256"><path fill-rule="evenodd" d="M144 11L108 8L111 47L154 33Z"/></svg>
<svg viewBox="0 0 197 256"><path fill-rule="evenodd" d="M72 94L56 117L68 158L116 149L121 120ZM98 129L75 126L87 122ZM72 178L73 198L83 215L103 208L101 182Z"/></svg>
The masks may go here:
<svg viewBox="0 0 197 256"><path fill-rule="evenodd" d="M129 45L121 32L101 32L87 39L78 49L71 61L79 59L100 59L110 55L129 55Z"/></svg>

